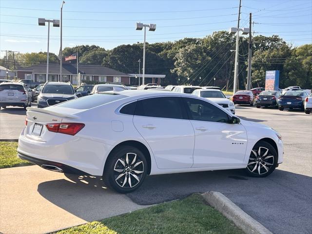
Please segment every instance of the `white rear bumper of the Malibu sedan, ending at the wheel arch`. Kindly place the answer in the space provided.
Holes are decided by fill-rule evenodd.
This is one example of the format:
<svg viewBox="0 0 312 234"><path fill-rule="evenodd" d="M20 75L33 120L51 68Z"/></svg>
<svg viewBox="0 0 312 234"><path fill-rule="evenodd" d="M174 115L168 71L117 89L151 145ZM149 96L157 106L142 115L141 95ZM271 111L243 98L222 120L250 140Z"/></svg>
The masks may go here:
<svg viewBox="0 0 312 234"><path fill-rule="evenodd" d="M111 145L77 136L55 133L48 141L31 139L23 130L19 137L18 154L38 165L45 162L66 171L102 176ZM49 164L47 164L49 165Z"/></svg>

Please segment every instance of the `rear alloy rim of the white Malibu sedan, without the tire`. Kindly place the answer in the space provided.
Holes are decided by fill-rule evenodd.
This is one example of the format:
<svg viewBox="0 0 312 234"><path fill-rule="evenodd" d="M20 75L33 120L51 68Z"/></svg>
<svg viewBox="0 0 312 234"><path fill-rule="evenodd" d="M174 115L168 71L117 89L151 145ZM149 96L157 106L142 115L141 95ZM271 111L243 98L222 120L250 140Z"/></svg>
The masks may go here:
<svg viewBox="0 0 312 234"><path fill-rule="evenodd" d="M116 183L122 188L133 188L140 182L144 163L135 153L127 153L117 159L114 166Z"/></svg>

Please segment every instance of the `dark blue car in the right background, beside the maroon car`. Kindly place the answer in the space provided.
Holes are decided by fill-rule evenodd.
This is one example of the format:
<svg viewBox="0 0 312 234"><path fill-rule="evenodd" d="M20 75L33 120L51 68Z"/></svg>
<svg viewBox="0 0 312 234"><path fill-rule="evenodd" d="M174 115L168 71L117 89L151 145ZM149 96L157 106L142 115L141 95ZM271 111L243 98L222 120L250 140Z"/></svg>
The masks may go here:
<svg viewBox="0 0 312 234"><path fill-rule="evenodd" d="M309 94L305 91L287 91L278 98L278 109L284 108L304 110L304 100Z"/></svg>

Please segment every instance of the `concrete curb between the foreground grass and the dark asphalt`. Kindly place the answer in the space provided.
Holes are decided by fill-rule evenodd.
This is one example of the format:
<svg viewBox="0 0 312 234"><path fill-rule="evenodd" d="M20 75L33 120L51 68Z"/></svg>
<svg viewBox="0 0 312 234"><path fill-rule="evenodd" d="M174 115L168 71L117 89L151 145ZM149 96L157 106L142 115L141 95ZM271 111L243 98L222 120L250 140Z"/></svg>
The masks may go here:
<svg viewBox="0 0 312 234"><path fill-rule="evenodd" d="M273 234L253 217L247 215L225 195L210 191L202 194L202 196L209 205L215 207L217 211L233 221L246 234Z"/></svg>

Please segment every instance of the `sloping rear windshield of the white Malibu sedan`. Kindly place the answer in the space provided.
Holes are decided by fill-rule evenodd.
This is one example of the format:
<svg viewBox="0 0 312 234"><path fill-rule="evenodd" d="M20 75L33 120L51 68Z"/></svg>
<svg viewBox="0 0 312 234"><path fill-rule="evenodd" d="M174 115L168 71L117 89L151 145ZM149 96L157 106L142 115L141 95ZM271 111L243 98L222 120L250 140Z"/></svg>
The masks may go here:
<svg viewBox="0 0 312 234"><path fill-rule="evenodd" d="M128 96L120 94L107 94L107 93L94 94L60 103L58 107L66 107L79 110L91 109L93 107L100 106L127 97Z"/></svg>

